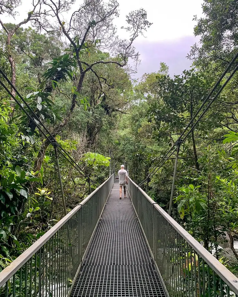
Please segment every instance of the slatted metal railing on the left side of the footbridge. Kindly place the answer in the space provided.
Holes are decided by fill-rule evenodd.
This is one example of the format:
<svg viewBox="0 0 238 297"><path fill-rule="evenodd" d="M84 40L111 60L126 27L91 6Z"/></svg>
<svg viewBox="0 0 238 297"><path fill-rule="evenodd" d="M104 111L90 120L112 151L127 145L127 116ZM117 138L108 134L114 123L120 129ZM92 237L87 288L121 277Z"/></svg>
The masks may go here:
<svg viewBox="0 0 238 297"><path fill-rule="evenodd" d="M66 297L105 205L115 174L0 272L0 296Z"/></svg>

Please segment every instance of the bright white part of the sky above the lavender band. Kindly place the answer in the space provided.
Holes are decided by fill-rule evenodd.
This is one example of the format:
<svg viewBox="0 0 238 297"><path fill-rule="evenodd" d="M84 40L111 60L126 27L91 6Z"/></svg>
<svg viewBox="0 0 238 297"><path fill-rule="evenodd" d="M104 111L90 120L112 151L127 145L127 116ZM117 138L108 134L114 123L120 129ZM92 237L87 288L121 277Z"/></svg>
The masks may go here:
<svg viewBox="0 0 238 297"><path fill-rule="evenodd" d="M122 25L126 25L125 16L132 10L141 7L147 11L147 18L153 25L146 32L148 41L177 40L181 37L192 36L195 22L192 21L193 15L201 16L202 0L118 0L120 16L114 20L118 28L119 37L125 38ZM19 15L16 21L21 21L27 16L31 9L31 0L22 0L22 5L18 7ZM74 7L78 7L82 1L76 1ZM5 16L4 22L14 22L13 18ZM144 37L138 37L138 41ZM146 40L144 40L146 42Z"/></svg>

